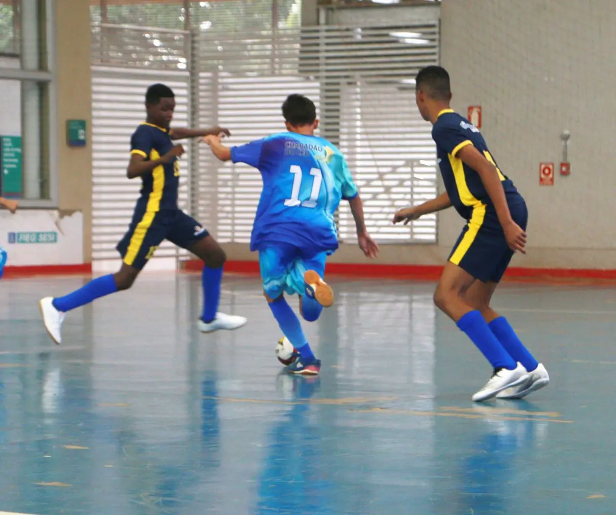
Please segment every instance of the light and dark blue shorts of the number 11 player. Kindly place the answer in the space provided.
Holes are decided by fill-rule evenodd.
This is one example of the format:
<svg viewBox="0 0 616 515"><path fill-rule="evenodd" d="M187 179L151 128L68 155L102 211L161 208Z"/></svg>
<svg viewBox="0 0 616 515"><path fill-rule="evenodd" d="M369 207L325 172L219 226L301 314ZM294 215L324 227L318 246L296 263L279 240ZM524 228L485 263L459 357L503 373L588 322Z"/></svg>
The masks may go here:
<svg viewBox="0 0 616 515"><path fill-rule="evenodd" d="M327 253L305 256L302 249L288 243L272 243L259 250L259 267L263 290L270 299L283 293L306 294L304 273L314 270L323 277Z"/></svg>

